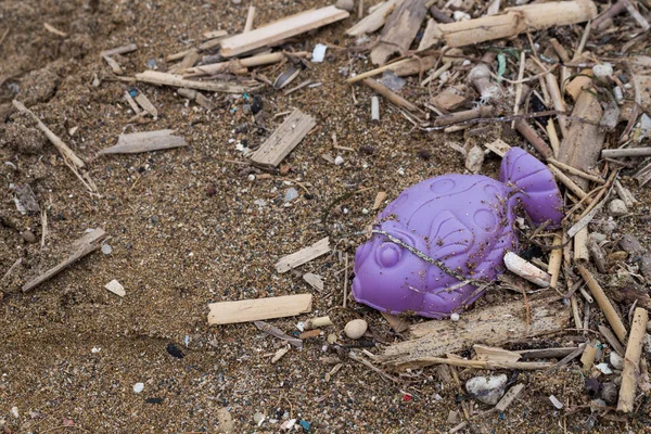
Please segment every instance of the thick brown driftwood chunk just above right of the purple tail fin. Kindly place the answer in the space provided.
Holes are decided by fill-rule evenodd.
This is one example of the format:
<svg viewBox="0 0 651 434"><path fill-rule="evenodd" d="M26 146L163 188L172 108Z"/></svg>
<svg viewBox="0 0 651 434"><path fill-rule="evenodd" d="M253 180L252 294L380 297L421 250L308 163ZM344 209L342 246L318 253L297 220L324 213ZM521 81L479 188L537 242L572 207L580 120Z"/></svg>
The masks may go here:
<svg viewBox="0 0 651 434"><path fill-rule="evenodd" d="M590 92L582 92L572 111L567 136L561 142L558 161L579 170L590 173L597 165L603 148L605 131L599 127L603 115L599 100ZM583 190L589 181L575 175L570 178Z"/></svg>

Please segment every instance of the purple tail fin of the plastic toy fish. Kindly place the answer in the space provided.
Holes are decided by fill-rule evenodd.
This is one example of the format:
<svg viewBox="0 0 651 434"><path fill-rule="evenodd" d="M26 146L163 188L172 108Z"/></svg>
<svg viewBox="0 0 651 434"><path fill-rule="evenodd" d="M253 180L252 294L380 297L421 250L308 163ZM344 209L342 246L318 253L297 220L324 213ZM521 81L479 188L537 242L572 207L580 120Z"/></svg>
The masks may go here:
<svg viewBox="0 0 651 434"><path fill-rule="evenodd" d="M502 159L499 180L515 189L511 200L520 200L536 225L550 220L558 227L563 218L561 192L551 171L521 148L511 148Z"/></svg>

